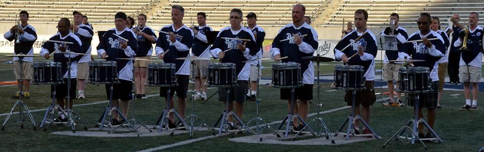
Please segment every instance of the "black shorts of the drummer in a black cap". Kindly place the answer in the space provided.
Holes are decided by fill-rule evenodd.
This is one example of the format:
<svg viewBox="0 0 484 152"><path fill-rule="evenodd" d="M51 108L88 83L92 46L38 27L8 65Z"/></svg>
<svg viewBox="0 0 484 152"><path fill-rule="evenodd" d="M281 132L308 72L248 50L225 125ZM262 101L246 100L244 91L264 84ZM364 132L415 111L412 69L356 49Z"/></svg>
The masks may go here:
<svg viewBox="0 0 484 152"><path fill-rule="evenodd" d="M106 84L106 97L109 100L109 90L111 84ZM131 100L133 99L133 94L131 90L133 89L133 82L128 80L119 79L119 83L112 84L112 100Z"/></svg>

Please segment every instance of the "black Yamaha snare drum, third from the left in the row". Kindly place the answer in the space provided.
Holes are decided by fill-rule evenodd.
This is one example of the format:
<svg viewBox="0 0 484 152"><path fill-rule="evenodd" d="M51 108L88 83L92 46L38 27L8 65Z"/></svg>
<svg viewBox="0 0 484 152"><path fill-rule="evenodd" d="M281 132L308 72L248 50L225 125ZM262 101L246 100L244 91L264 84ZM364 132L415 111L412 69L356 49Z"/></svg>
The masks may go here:
<svg viewBox="0 0 484 152"><path fill-rule="evenodd" d="M148 63L148 86L176 86L175 64Z"/></svg>

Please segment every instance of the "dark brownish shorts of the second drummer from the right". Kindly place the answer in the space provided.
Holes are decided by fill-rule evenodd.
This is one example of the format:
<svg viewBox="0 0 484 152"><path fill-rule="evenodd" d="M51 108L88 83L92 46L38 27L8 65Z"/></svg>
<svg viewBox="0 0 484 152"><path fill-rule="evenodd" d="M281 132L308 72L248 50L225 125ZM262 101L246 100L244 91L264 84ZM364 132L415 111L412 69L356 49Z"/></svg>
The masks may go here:
<svg viewBox="0 0 484 152"><path fill-rule="evenodd" d="M346 105L352 106L353 91L346 91L344 101L346 101ZM374 81L365 81L365 89L356 91L354 105L371 106L375 101L377 101L377 96L375 95Z"/></svg>

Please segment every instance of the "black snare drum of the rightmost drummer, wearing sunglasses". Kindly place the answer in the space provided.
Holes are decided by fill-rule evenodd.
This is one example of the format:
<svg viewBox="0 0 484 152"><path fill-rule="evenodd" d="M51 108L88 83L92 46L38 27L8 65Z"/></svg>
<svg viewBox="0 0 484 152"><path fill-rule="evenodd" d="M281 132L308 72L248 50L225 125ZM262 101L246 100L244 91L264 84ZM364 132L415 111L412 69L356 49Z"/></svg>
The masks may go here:
<svg viewBox="0 0 484 152"><path fill-rule="evenodd" d="M398 70L400 86L398 91L403 93L425 93L431 89L428 67L402 67Z"/></svg>

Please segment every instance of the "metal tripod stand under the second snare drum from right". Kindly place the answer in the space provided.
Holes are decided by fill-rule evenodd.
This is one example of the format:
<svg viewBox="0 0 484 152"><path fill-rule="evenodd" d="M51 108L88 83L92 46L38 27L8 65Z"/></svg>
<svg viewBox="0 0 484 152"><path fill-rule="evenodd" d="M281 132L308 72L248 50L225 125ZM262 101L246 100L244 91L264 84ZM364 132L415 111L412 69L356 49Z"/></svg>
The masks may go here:
<svg viewBox="0 0 484 152"><path fill-rule="evenodd" d="M351 114L343 121L343 124L341 124L341 126L339 126L339 129L334 134L334 136L337 136L343 130L343 127L346 125L346 123L348 123L348 128L346 129L346 134L345 134L346 135L346 140L349 139L349 136L350 135L351 136L357 136L357 135L354 134L354 121L356 121L356 119L358 119L366 127L366 129L368 129L372 133L370 135L373 135L375 138L380 139L381 137L378 136L375 133L375 131L373 131L373 129L370 127L370 125L368 125L368 123L365 122L365 120L363 120L363 118L361 116L355 115L356 90L355 89L354 90L351 90L351 92L352 92ZM368 136L368 134L362 134L360 136Z"/></svg>

